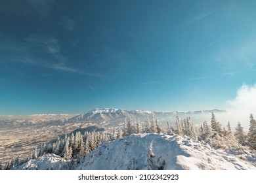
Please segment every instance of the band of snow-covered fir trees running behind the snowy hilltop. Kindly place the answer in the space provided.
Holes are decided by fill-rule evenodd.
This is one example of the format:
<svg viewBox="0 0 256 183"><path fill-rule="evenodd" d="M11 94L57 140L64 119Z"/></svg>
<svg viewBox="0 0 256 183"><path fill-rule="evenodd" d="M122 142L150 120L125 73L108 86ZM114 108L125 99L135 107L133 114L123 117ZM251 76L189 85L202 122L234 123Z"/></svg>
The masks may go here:
<svg viewBox="0 0 256 183"><path fill-rule="evenodd" d="M87 156L100 144L137 133L165 133L168 135L188 136L207 142L211 146L226 149L236 148L237 153L242 154L245 150L249 150L249 148L256 150L256 122L253 114L250 114L249 120L249 132L247 134L245 134L244 127L242 127L240 122L238 122L234 133L232 132L230 122L228 122L226 127L222 127L221 123L217 122L213 112L211 114L211 122L208 124L205 121L199 128L194 126L190 117L181 119L179 116L175 118L175 127L173 127L172 123L167 122L161 128L158 120L154 118L152 113L145 122L135 122L132 118L127 118L119 127L114 127L112 133L107 133L106 131L85 131L84 134L81 134L80 131L77 131L75 134L66 135L63 139L58 138L56 142L36 147L26 159L20 159L17 156L11 159L4 167L0 162L0 169L13 169L30 159L36 159L44 154L56 154L66 160L71 159L79 163L79 160Z"/></svg>

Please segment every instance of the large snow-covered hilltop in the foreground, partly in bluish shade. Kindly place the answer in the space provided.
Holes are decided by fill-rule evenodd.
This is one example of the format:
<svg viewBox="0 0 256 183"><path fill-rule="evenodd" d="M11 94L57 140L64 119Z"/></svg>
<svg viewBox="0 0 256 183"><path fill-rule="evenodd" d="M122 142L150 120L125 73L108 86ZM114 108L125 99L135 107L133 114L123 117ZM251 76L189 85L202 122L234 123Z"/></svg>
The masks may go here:
<svg viewBox="0 0 256 183"><path fill-rule="evenodd" d="M215 150L188 137L144 133L102 144L76 169L256 169L256 156L246 156Z"/></svg>

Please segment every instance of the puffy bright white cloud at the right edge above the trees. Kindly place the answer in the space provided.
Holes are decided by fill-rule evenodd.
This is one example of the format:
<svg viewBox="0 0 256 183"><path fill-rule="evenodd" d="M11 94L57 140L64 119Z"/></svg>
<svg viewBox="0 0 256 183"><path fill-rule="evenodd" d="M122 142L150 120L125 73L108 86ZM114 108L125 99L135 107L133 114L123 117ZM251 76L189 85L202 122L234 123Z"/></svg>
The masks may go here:
<svg viewBox="0 0 256 183"><path fill-rule="evenodd" d="M226 102L227 110L234 111L256 111L256 84L248 86L244 84L238 89L236 98Z"/></svg>

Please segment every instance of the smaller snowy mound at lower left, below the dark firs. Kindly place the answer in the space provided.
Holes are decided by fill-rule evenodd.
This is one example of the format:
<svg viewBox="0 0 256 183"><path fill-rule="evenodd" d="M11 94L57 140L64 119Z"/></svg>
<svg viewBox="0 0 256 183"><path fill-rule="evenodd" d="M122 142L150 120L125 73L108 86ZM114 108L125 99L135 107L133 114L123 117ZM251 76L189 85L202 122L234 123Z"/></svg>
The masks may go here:
<svg viewBox="0 0 256 183"><path fill-rule="evenodd" d="M18 170L60 170L68 169L68 162L60 156L55 154L45 154L37 159L30 159L30 161L15 167Z"/></svg>

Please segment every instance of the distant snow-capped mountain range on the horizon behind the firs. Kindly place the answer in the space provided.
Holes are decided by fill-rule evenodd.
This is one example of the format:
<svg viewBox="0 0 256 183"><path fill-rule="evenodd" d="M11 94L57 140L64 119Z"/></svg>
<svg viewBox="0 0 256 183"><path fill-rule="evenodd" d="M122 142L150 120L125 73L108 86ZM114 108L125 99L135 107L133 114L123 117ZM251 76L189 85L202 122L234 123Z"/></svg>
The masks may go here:
<svg viewBox="0 0 256 183"><path fill-rule="evenodd" d="M119 124L123 124L125 119L132 118L135 121L144 122L146 118L150 118L152 114L154 118L157 118L160 124L166 124L171 120L174 120L176 116L180 118L186 118L186 116L196 115L198 118L198 114L211 114L211 112L225 112L225 110L199 110L199 111L190 111L190 112L181 112L181 111L173 111L173 112L158 112L158 111L150 111L150 110L123 110L117 108L95 108L89 112L79 114L70 118L68 122L90 122L96 123L98 125L103 125L106 127L118 126ZM201 121L200 121L201 122Z"/></svg>

